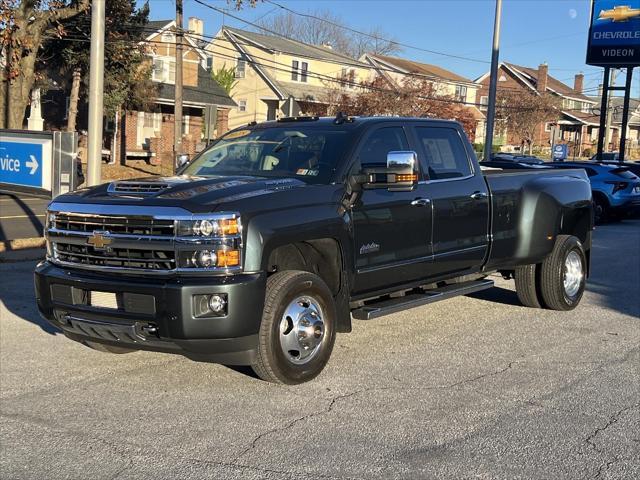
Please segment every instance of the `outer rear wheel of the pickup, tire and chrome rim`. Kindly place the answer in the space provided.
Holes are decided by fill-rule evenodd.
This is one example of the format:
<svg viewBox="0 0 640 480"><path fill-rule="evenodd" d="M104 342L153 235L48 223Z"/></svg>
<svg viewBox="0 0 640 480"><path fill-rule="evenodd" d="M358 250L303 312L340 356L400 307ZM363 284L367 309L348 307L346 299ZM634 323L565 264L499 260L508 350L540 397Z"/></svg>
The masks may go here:
<svg viewBox="0 0 640 480"><path fill-rule="evenodd" d="M540 292L551 310L573 310L584 294L587 260L582 243L571 235L559 235L540 271Z"/></svg>

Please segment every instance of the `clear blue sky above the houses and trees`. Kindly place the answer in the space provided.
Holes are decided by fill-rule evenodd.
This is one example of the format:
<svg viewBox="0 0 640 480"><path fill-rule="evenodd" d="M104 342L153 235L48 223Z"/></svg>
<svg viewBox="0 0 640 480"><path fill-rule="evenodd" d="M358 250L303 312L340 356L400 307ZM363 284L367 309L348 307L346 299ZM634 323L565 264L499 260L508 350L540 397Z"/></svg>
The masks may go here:
<svg viewBox="0 0 640 480"><path fill-rule="evenodd" d="M234 9L234 2L202 0L217 8L229 8L232 15L253 22L283 13L271 3L258 1L256 7ZM303 13L330 10L356 30L380 26L396 41L410 46L475 61L451 58L413 48L398 54L405 58L432 63L469 79L489 70L495 0L274 0ZM139 2L142 3L142 2ZM173 0L150 0L151 19L175 17ZM626 0L624 4L640 3ZM214 35L222 25L221 13L194 0L184 0L184 17L204 20L205 34ZM504 0L500 60L536 68L546 62L549 73L573 86L576 73L585 74L585 94L596 95L602 82L602 68L586 65L590 0ZM230 26L251 29L242 21L226 16ZM634 75L634 96L638 70ZM624 75L618 76L618 84Z"/></svg>

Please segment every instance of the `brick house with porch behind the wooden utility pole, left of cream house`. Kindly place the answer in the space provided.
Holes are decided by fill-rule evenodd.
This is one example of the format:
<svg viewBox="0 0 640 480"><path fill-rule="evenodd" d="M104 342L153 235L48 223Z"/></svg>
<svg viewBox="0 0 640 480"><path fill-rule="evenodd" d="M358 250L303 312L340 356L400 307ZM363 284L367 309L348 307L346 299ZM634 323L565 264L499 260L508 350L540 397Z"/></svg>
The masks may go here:
<svg viewBox="0 0 640 480"><path fill-rule="evenodd" d="M151 21L145 41L153 63L152 81L157 97L148 111L126 111L118 122L118 157L127 159L168 160L173 157L175 105L175 26L174 20ZM189 30L202 35L202 20L189 19ZM184 37L183 122L184 153L194 154L202 143L205 111L215 105L217 118L213 136L229 129L229 110L234 101L212 78L207 55L190 35Z"/></svg>

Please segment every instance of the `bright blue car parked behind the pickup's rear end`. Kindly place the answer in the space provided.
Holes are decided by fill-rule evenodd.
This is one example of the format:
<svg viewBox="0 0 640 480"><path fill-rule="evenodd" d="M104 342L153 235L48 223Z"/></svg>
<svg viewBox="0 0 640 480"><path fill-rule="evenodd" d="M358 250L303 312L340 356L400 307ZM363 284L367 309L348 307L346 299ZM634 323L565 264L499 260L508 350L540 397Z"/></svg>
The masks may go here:
<svg viewBox="0 0 640 480"><path fill-rule="evenodd" d="M640 178L628 167L594 162L556 162L552 168L584 168L591 182L596 223L640 209Z"/></svg>

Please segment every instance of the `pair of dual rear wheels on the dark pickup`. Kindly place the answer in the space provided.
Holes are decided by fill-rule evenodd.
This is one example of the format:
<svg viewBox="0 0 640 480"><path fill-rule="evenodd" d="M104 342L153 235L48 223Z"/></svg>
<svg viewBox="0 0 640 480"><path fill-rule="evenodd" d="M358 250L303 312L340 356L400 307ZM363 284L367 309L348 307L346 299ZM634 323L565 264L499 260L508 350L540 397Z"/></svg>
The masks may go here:
<svg viewBox="0 0 640 480"><path fill-rule="evenodd" d="M580 240L559 235L542 263L516 268L516 292L527 307L573 310L584 294L586 272L587 259Z"/></svg>

